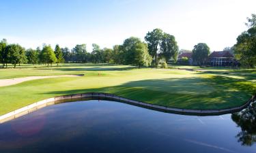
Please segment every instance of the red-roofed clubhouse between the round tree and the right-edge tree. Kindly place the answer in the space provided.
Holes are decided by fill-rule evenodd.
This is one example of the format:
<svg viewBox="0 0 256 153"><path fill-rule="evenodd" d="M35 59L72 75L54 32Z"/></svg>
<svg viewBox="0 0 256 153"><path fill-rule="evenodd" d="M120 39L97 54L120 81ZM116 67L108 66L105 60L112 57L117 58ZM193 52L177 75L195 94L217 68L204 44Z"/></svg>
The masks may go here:
<svg viewBox="0 0 256 153"><path fill-rule="evenodd" d="M214 67L237 66L233 54L228 51L212 52L208 58L208 65Z"/></svg>

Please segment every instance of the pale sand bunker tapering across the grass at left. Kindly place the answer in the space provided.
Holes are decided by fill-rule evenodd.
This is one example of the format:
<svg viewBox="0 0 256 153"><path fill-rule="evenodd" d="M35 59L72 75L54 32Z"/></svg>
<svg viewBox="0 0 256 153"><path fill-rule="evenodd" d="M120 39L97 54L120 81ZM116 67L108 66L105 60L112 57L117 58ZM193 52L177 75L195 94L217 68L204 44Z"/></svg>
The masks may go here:
<svg viewBox="0 0 256 153"><path fill-rule="evenodd" d="M46 78L59 78L59 77L80 77L79 75L52 75L52 76L31 76L25 78L13 78L13 79L2 79L0 80L0 86L11 86L14 84L19 84L21 82L27 82L30 80L46 79Z"/></svg>

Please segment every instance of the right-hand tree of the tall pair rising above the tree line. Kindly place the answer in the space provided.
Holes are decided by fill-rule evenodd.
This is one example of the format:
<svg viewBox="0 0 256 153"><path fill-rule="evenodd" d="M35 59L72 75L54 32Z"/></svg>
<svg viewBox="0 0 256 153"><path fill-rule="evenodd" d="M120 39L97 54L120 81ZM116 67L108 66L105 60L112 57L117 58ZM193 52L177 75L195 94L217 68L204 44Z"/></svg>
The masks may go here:
<svg viewBox="0 0 256 153"><path fill-rule="evenodd" d="M179 48L177 46L177 42L175 41L175 37L173 35L169 35L168 33L164 33L162 35L162 42L160 44L160 53L165 57L165 62L168 63L170 58L177 61L177 54Z"/></svg>

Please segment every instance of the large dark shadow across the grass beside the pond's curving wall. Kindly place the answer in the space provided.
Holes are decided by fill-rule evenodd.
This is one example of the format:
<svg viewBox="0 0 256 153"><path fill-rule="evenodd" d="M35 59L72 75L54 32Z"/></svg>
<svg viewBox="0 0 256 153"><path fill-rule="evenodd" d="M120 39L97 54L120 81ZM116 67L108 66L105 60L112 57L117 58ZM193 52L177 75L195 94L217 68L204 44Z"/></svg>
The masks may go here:
<svg viewBox="0 0 256 153"><path fill-rule="evenodd" d="M128 99L186 109L223 109L240 106L255 93L255 87L243 80L212 78L175 78L127 82L119 86L48 92L72 95L86 92L112 93Z"/></svg>

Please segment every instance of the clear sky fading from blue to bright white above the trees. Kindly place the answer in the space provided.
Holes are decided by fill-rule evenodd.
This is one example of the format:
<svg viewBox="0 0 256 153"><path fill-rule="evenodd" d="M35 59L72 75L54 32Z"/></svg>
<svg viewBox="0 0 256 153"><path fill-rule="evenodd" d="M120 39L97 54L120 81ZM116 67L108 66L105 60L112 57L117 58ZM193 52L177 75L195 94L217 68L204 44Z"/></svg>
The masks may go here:
<svg viewBox="0 0 256 153"><path fill-rule="evenodd" d="M255 0L0 0L0 39L25 48L98 44L112 48L160 28L180 49L206 43L211 51L236 44Z"/></svg>

